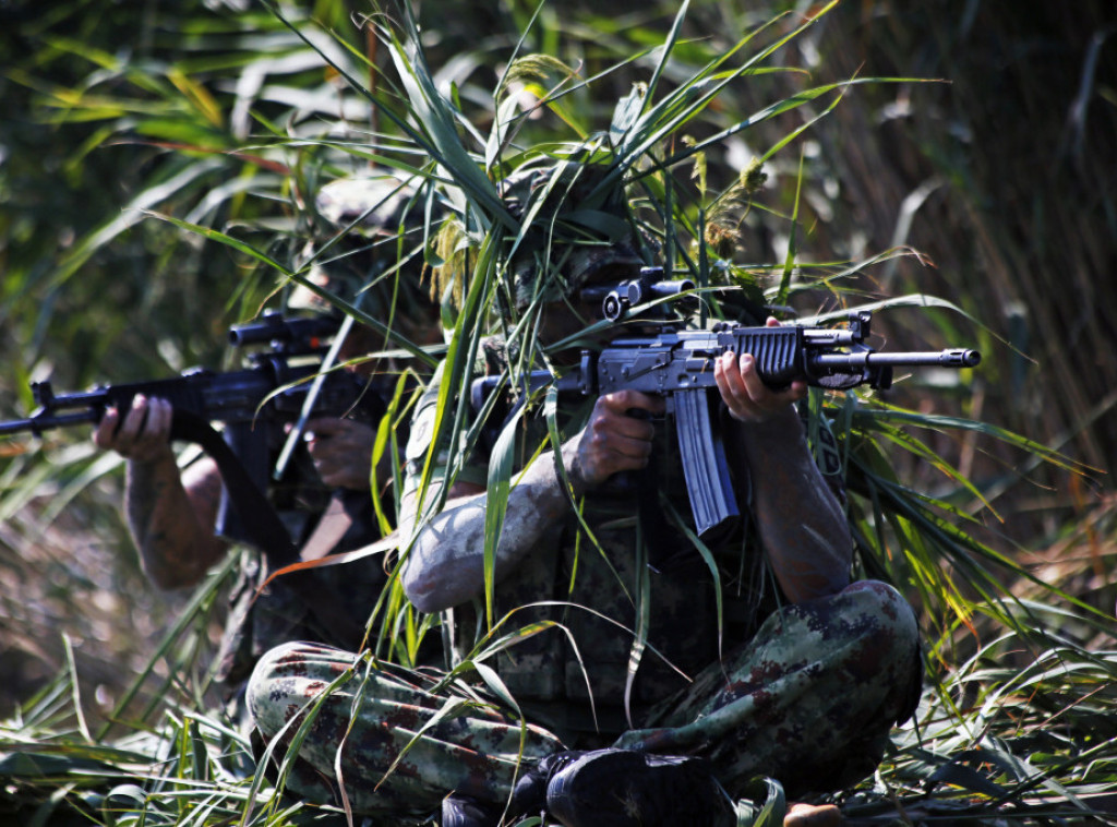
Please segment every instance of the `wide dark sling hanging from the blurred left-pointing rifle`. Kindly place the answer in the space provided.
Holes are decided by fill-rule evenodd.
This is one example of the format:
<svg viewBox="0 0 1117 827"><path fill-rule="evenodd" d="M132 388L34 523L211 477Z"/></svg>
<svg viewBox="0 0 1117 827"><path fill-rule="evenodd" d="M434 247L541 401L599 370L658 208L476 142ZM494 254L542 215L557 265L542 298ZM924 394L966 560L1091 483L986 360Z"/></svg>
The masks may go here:
<svg viewBox="0 0 1117 827"><path fill-rule="evenodd" d="M212 425L197 414L176 408L171 421L171 439L201 446L217 463L229 500L244 523L249 541L264 554L270 571L299 561L298 549L290 541L276 510ZM295 572L284 578L284 584L305 601L307 609L336 643L354 649L360 646L364 627L338 610L336 599L321 582L305 572Z"/></svg>

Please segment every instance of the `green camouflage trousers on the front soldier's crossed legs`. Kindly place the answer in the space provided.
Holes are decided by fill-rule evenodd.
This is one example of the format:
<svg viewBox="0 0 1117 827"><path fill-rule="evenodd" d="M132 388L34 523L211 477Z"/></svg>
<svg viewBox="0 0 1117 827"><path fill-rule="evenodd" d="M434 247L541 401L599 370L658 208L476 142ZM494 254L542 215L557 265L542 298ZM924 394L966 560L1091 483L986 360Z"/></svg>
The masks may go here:
<svg viewBox="0 0 1117 827"><path fill-rule="evenodd" d="M789 795L840 789L876 768L892 724L915 709L920 674L910 607L891 587L861 581L774 612L615 745L704 755L732 795L758 774ZM369 815L429 815L451 791L507 800L536 759L563 749L440 674L313 644L265 655L248 704L277 745L305 734L289 790L337 804L340 780Z"/></svg>

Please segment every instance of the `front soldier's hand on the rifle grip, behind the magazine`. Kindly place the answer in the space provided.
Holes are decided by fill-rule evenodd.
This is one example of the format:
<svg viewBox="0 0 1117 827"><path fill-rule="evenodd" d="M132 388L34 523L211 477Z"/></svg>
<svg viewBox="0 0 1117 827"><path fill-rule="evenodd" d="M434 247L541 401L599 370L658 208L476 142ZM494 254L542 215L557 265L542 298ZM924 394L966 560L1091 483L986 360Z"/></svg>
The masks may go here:
<svg viewBox="0 0 1117 827"><path fill-rule="evenodd" d="M563 451L575 487L593 488L613 474L647 467L655 427L629 411L661 414L665 405L661 397L634 390L599 397L590 421Z"/></svg>

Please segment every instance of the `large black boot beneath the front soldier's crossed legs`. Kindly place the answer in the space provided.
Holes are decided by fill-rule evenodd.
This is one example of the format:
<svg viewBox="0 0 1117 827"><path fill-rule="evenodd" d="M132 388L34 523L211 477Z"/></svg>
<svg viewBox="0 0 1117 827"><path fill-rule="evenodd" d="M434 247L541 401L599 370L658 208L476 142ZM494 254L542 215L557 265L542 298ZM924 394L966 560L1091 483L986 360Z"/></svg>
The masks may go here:
<svg viewBox="0 0 1117 827"><path fill-rule="evenodd" d="M547 785L547 810L565 827L733 827L728 797L700 758L598 750Z"/></svg>

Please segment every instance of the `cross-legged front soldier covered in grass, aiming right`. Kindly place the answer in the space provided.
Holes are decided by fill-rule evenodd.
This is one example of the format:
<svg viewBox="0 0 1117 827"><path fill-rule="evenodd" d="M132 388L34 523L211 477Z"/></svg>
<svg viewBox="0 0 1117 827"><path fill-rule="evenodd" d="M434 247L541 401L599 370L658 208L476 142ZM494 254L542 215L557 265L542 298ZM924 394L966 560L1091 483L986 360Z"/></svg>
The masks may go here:
<svg viewBox="0 0 1117 827"><path fill-rule="evenodd" d="M571 187L562 209L582 207L586 189ZM521 201L543 190L528 187ZM611 209L628 218L624 206ZM540 220L553 229L561 217ZM542 343L571 341L598 317L582 287L640 263L632 237L627 247L612 240L581 255L548 239L535 266L508 268L509 295L551 300ZM503 353L487 349L497 370ZM576 363L577 352L548 359ZM517 710L476 686L290 644L249 682L262 734L289 740L299 713L322 702L299 757L325 776L340 768L355 811L421 816L441 806L443 827L541 812L566 827L734 825L733 801L756 776L805 796L869 774L918 696L915 617L891 587L850 581L841 498L795 409L804 383L767 388L750 354L722 355L715 378L748 519L700 548L679 457L652 421L661 398L626 390L586 412L560 397L557 451L535 450L546 424L533 416L541 411L523 414L524 451L491 560L493 617L513 611L512 625L534 634L488 665ZM449 478L455 457L430 444L438 390L436 374L408 448L403 583L416 607L446 612L464 658L485 622L489 457L478 448ZM428 456L441 469L423 491ZM837 809L795 808L787 824L820 818L837 820Z"/></svg>

